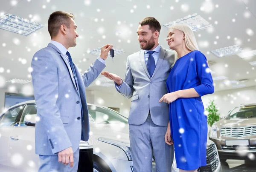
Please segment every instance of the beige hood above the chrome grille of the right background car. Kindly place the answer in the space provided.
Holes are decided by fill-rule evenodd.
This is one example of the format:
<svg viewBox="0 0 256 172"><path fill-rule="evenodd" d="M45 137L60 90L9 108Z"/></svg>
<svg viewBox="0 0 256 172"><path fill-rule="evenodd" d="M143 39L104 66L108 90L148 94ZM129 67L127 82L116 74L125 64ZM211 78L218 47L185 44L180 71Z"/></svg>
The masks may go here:
<svg viewBox="0 0 256 172"><path fill-rule="evenodd" d="M219 128L223 127L243 127L243 126L256 126L256 118L234 118L222 119L215 123Z"/></svg>

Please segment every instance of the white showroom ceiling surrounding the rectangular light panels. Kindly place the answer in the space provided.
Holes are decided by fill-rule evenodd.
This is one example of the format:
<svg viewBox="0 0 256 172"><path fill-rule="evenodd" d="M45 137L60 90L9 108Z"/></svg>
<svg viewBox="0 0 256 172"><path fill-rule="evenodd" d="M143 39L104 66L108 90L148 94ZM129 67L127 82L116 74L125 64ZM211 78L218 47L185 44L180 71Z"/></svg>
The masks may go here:
<svg viewBox="0 0 256 172"><path fill-rule="evenodd" d="M12 6L12 3L17 5ZM106 71L116 73L124 78L126 58L129 54L140 50L137 40L137 27L144 17L155 17L161 25L176 20L186 15L198 13L212 24L212 27L194 32L199 48L207 59L215 62L210 66L213 77L224 75L229 80L249 79L244 83L246 86L256 85L256 69L253 70L249 62L256 61L256 56L241 59L237 55L218 58L207 52L227 46L239 44L243 49L256 49L256 33L248 35L247 29L256 32L256 1L255 0L1 0L0 13L8 12L17 16L32 18L44 25L42 29L28 36L15 34L0 29L0 67L5 71L0 73L6 80L13 78L31 80L28 77L28 68L33 54L39 49L47 46L50 41L47 31L47 20L53 11L63 10L75 14L78 26L78 45L70 48L69 52L73 61L84 71L95 60L96 56L87 54L92 50L106 43L112 43L114 48L123 49L124 54L106 61ZM90 5L88 5L90 2ZM87 5L85 5L87 4ZM46 8L43 8L45 6ZM150 6L150 8L147 8ZM170 7L173 6L173 10ZM204 11L201 7L204 6ZM218 8L217 8L218 7ZM98 10L99 9L99 10ZM131 12L133 11L133 13ZM211 17L211 20L209 20ZM102 21L103 19L103 21ZM236 21L233 22L232 20ZM96 20L98 20L96 22ZM215 21L218 24L215 24ZM101 33L100 31L104 31ZM159 43L169 49L166 43L168 29L162 26ZM119 33L116 35L116 33ZM201 37L198 36L201 34ZM102 36L105 35L105 39ZM230 39L227 39L227 36ZM216 36L219 38L216 39ZM14 39L20 44L16 45ZM235 40L237 39L237 40ZM250 39L250 41L248 41ZM217 41L217 44L214 42ZM206 42L206 43L205 43ZM6 46L2 46L6 43ZM17 43L17 41L16 41ZM207 45L208 44L208 45ZM28 49L31 51L28 52ZM9 54L9 50L12 54ZM22 64L18 59L26 59L27 63ZM83 59L86 59L84 62ZM228 67L225 67L225 65ZM256 68L256 67L255 67ZM7 69L10 73L7 73ZM247 72L249 72L247 74ZM101 76L100 76L101 77ZM215 81L215 91L233 89L232 86L222 84L222 81ZM6 83L6 87L11 83ZM21 85L16 84L17 87ZM113 92L114 87L96 86L93 83L90 90L102 90Z"/></svg>

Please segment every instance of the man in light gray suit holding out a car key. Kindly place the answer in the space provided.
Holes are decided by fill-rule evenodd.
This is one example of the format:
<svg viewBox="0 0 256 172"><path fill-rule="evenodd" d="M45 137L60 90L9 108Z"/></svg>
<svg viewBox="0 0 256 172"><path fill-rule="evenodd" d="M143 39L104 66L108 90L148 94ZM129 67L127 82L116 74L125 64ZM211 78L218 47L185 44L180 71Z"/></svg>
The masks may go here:
<svg viewBox="0 0 256 172"><path fill-rule="evenodd" d="M112 45L103 46L100 56L81 75L67 51L76 46L79 36L76 27L73 14L53 12L48 20L52 41L32 59L38 117L35 153L41 161L39 172L77 172L80 139L89 139L85 87L105 68Z"/></svg>

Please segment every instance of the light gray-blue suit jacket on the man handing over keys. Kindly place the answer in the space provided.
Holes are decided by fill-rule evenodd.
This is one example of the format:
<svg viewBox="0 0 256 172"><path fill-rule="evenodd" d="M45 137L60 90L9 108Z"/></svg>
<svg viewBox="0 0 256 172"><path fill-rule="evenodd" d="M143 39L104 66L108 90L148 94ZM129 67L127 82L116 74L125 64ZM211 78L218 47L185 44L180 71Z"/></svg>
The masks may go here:
<svg viewBox="0 0 256 172"><path fill-rule="evenodd" d="M81 131L84 141L89 139L89 116L85 97L88 87L105 68L105 64L95 60L90 68L72 80L70 65L60 50L49 43L35 53L32 59L32 83L37 105L38 121L35 125L35 152L38 155L57 155L72 146L75 152L80 143ZM79 92L78 92L79 90ZM81 108L82 107L82 108ZM81 109L83 110L84 128L82 128Z"/></svg>

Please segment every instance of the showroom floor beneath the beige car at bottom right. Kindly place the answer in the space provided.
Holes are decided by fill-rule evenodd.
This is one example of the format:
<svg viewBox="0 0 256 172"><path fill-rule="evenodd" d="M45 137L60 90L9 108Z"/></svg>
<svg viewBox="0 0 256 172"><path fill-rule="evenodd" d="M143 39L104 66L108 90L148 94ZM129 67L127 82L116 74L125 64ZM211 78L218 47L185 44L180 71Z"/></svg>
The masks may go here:
<svg viewBox="0 0 256 172"><path fill-rule="evenodd" d="M227 160L221 163L223 172L256 172L256 164L244 164L243 160Z"/></svg>

